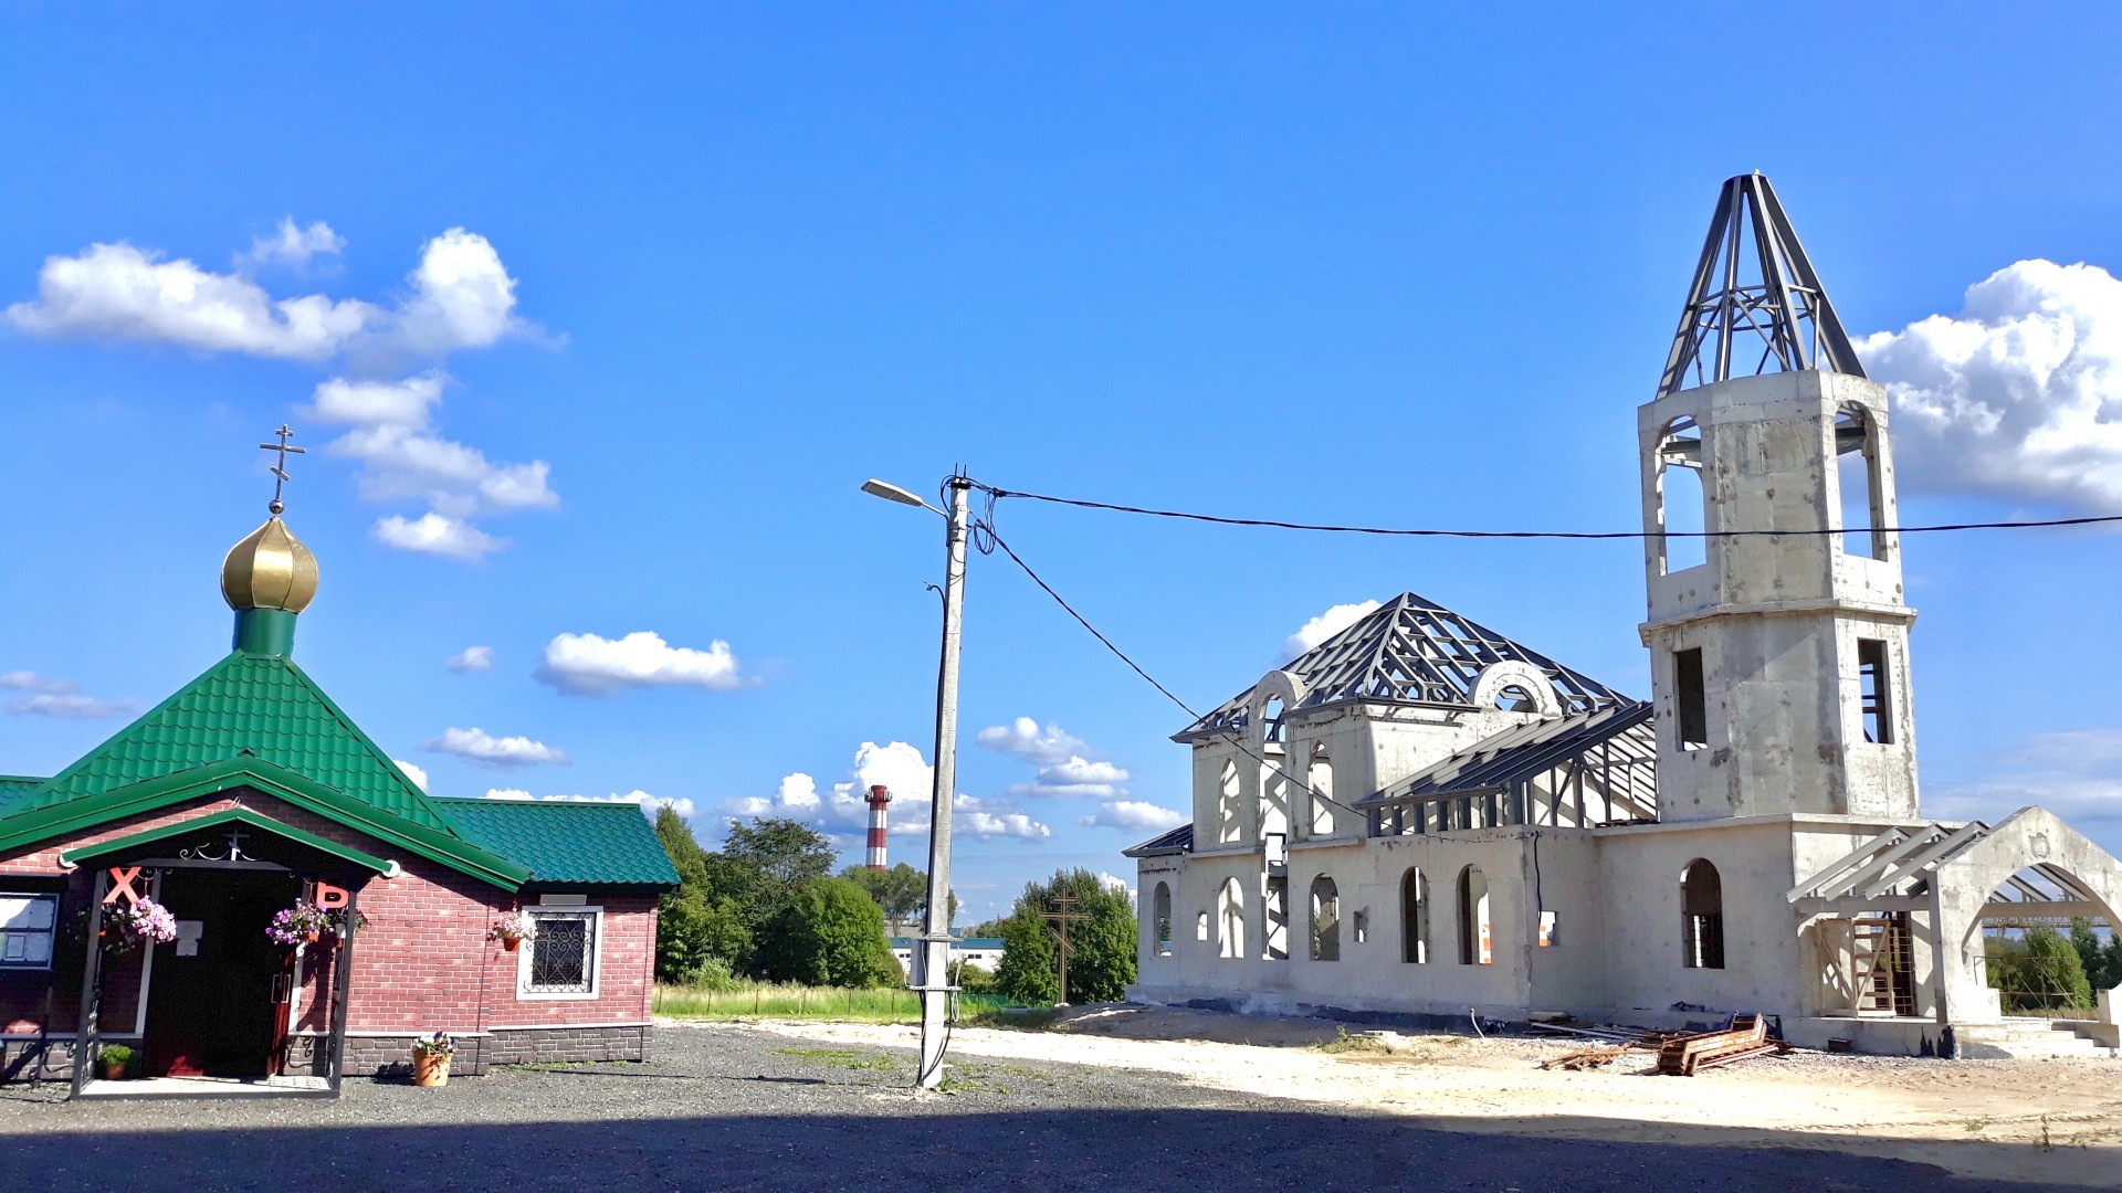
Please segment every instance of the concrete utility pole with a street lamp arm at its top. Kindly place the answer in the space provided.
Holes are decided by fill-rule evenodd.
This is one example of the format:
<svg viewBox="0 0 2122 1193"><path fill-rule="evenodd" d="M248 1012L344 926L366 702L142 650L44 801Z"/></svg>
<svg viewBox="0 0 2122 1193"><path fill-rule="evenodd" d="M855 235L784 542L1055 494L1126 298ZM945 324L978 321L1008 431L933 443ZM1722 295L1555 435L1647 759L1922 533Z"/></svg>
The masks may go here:
<svg viewBox="0 0 2122 1193"><path fill-rule="evenodd" d="M957 654L959 622L966 613L966 522L972 478L955 473L944 482L951 490L951 512L944 514L912 492L881 480L864 482L862 490L900 505L919 505L942 514L944 535L942 580L942 660L936 667L936 788L929 800L929 894L921 947L915 949L912 987L921 993L921 1068L917 1085L936 1089L942 1080L942 1049L949 1038L951 993L951 796L957 792Z"/></svg>

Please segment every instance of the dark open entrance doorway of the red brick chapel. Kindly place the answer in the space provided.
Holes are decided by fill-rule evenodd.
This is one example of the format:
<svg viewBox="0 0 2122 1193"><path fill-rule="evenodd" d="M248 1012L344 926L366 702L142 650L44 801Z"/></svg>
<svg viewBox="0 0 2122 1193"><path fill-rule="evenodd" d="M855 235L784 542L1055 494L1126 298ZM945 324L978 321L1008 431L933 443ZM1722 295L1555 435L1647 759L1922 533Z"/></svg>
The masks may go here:
<svg viewBox="0 0 2122 1193"><path fill-rule="evenodd" d="M146 1004L146 1068L155 1076L265 1076L280 1006L276 979L286 949L265 938L276 911L293 906L293 875L170 870L161 900L178 921L197 921L197 949L155 949Z"/></svg>

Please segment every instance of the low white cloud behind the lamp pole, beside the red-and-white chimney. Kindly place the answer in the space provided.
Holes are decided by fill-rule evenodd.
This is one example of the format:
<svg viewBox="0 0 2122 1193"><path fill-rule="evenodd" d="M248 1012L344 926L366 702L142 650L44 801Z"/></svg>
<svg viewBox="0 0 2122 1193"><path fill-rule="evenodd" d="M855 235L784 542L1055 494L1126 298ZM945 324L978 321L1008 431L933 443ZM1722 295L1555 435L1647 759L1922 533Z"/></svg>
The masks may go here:
<svg viewBox="0 0 2122 1193"><path fill-rule="evenodd" d="M864 802L864 794L874 785L891 790L887 824L893 836L927 832L936 768L921 756L921 749L904 741L887 745L864 741L855 749L847 781L832 788L819 788L817 779L796 771L781 779L772 796L724 800L719 811L736 817L770 815L800 819L821 832L853 841L870 824L870 807ZM968 794L959 794L953 800L951 828L982 841L995 836L1044 841L1053 836L1053 828L1019 813L1006 800L982 800Z"/></svg>

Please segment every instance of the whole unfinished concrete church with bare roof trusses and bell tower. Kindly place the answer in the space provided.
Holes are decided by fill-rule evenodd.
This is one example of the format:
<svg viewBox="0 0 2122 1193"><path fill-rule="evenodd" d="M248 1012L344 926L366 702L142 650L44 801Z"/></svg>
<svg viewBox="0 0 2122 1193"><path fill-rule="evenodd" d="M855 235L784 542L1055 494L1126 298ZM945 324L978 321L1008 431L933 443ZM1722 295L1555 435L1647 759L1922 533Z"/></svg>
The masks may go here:
<svg viewBox="0 0 2122 1193"><path fill-rule="evenodd" d="M1990 940L2116 926L2122 866L2027 807L1925 819L1886 391L1768 178L1723 185L1636 412L1651 701L1407 592L1176 734L1137 845L1142 1002L2114 1049L2014 1019ZM1685 533L1693 531L1693 533ZM2003 983L2010 985L2010 983Z"/></svg>

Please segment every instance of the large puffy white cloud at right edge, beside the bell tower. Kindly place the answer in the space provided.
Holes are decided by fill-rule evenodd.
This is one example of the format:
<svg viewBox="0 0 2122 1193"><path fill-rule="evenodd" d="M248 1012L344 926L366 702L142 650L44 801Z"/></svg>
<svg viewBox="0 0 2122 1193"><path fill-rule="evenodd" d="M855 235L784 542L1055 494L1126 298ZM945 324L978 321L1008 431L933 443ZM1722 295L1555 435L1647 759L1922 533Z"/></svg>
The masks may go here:
<svg viewBox="0 0 2122 1193"><path fill-rule="evenodd" d="M1903 486L2122 509L2122 280L2018 261L1857 346L1893 395Z"/></svg>

